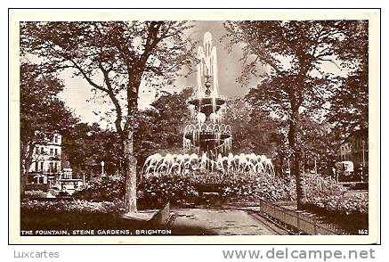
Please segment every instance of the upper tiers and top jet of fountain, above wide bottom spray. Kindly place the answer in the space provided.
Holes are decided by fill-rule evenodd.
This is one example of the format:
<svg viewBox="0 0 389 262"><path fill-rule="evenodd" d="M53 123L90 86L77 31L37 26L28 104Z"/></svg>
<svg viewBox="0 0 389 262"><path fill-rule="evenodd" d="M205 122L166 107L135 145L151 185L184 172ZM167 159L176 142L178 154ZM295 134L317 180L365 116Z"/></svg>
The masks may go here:
<svg viewBox="0 0 389 262"><path fill-rule="evenodd" d="M219 153L230 149L231 128L222 123L226 106L224 97L218 94L216 47L209 32L204 36L204 48L199 46L198 59L198 92L188 101L197 124L185 127L183 147L196 148L198 154L205 152L215 160Z"/></svg>

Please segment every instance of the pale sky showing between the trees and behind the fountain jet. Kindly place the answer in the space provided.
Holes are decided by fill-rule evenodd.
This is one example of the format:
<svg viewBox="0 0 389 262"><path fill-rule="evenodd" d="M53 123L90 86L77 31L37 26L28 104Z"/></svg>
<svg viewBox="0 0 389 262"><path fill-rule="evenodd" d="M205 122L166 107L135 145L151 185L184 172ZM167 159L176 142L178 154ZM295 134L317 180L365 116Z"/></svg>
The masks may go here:
<svg viewBox="0 0 389 262"><path fill-rule="evenodd" d="M217 49L218 59L218 76L219 76L219 93L226 97L241 96L247 94L248 87L241 87L236 78L239 77L239 73L242 69L242 62L239 58L242 56L238 47L232 50L232 53L228 53L224 46L227 40L220 42L221 37L226 33L223 28L222 21L196 21L194 22L194 28L188 32L191 37L199 41L199 45L202 45L204 34L209 31L213 37L213 45ZM84 78L72 78L72 71L66 70L61 73L65 84L65 90L60 97L66 102L70 109L74 110L75 114L79 116L82 121L93 123L101 123L101 115L96 115L93 111L109 111L110 105L103 103L104 99L93 99L93 93L91 92L91 86L86 82ZM190 75L189 78L177 78L175 86L178 89L182 89L188 86L196 86L196 73ZM255 81L250 87L255 86ZM165 89L166 90L166 89ZM167 87L169 92L173 92L174 89ZM176 89L176 91L179 91ZM100 94L101 95L101 94ZM99 94L97 95L99 96ZM109 98L105 98L107 100ZM139 94L139 107L145 109L150 105L150 102L156 99L156 91L146 86L141 86ZM89 101L89 102L87 102ZM101 123L101 127L106 126L106 123Z"/></svg>

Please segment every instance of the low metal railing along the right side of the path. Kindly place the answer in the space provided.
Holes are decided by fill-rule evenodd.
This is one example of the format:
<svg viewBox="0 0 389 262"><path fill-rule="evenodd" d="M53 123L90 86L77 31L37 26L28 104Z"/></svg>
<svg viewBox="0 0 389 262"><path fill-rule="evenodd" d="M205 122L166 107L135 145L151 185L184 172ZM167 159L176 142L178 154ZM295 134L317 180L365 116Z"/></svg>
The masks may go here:
<svg viewBox="0 0 389 262"><path fill-rule="evenodd" d="M276 219L283 225L292 227L297 231L317 234L341 234L334 225L321 224L314 216L309 216L301 211L290 210L268 201L260 201L261 213L266 217Z"/></svg>

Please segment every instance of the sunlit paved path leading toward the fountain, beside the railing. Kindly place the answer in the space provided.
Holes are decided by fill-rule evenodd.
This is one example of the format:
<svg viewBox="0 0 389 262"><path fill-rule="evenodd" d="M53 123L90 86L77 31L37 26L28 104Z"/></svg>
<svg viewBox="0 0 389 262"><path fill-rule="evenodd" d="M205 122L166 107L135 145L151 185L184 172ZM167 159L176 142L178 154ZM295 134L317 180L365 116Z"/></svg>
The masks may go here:
<svg viewBox="0 0 389 262"><path fill-rule="evenodd" d="M172 230L198 228L204 234L277 234L261 220L238 209L174 209ZM180 230L182 231L182 230ZM196 234L197 234L196 233Z"/></svg>

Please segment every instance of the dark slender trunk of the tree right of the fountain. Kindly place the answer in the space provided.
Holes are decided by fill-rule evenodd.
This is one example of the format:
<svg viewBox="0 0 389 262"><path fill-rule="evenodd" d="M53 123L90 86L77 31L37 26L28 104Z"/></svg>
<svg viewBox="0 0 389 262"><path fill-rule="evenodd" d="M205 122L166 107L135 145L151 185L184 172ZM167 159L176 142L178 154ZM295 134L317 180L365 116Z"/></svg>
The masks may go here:
<svg viewBox="0 0 389 262"><path fill-rule="evenodd" d="M296 200L297 209L302 209L303 203L303 176L301 175L301 151L297 143L297 132L299 124L299 112L298 107L292 106L292 114L289 123L288 141L293 153L293 161L290 167L290 173L292 176L296 176Z"/></svg>

